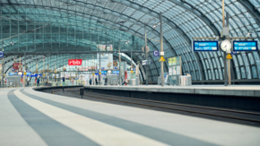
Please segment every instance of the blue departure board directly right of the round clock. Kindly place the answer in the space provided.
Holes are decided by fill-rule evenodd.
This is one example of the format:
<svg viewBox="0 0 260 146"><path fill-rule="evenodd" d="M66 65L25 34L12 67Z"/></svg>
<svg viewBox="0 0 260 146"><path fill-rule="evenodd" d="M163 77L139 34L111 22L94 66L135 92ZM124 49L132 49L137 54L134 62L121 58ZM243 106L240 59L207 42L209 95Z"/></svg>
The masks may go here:
<svg viewBox="0 0 260 146"><path fill-rule="evenodd" d="M234 40L233 51L258 51L257 41L256 40L250 40L250 41Z"/></svg>

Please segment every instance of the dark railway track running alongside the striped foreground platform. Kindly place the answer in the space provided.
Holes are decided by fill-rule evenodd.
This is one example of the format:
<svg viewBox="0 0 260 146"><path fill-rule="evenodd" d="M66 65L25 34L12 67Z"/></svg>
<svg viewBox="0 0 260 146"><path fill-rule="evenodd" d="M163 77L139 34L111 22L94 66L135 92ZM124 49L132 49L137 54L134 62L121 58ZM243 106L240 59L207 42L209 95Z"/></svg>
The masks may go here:
<svg viewBox="0 0 260 146"><path fill-rule="evenodd" d="M53 94L55 94L56 91L57 90L53 91ZM69 91L73 92L74 94L80 94L79 90L69 90ZM195 113L195 114L201 114L207 116L220 116L220 117L237 119L237 120L260 124L260 113L256 113L256 112L240 111L240 110L219 108L219 107L203 107L203 106L195 106L195 105L186 105L186 104L163 102L163 101L148 100L148 99L125 98L125 97L105 95L105 94L93 93L87 91L85 91L85 93L86 95L84 96L91 97L91 98L108 99L112 101L119 101L124 103L135 104L135 105L159 107L164 109L178 110L182 112Z"/></svg>

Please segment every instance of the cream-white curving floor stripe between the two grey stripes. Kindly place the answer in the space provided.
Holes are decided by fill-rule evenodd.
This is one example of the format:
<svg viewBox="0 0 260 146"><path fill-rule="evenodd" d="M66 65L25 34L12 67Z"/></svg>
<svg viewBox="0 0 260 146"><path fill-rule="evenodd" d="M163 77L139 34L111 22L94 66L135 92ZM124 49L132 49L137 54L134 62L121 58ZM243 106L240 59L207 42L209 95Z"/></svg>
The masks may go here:
<svg viewBox="0 0 260 146"><path fill-rule="evenodd" d="M74 114L65 109L48 105L39 100L30 99L26 95L23 95L20 90L15 90L14 94L31 107L36 108L57 122L73 129L75 132L82 133L82 135L88 137L93 142L99 143L100 145L167 145L165 143L157 142L150 138L144 137L143 135L132 133L116 126L107 125L100 121Z"/></svg>

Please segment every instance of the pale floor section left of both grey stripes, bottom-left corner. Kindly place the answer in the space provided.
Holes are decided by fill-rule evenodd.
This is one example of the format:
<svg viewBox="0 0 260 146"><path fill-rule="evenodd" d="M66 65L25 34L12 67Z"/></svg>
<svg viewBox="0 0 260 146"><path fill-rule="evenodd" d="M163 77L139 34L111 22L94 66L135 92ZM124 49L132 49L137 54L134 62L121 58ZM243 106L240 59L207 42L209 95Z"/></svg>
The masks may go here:
<svg viewBox="0 0 260 146"><path fill-rule="evenodd" d="M0 146L48 146L13 107L7 96L10 90L0 90Z"/></svg>

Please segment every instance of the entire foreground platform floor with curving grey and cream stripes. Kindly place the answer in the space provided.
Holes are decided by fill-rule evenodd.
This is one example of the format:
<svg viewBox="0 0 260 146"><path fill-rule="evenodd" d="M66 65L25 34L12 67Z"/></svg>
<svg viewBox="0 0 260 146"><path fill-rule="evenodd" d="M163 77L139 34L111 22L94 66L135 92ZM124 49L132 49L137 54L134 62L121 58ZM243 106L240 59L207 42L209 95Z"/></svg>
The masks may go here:
<svg viewBox="0 0 260 146"><path fill-rule="evenodd" d="M0 90L0 145L260 145L260 128L16 88Z"/></svg>

